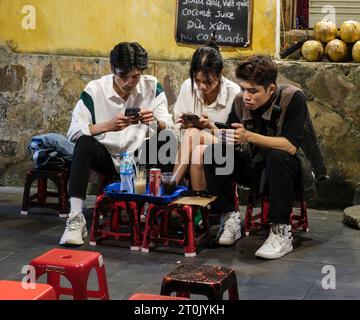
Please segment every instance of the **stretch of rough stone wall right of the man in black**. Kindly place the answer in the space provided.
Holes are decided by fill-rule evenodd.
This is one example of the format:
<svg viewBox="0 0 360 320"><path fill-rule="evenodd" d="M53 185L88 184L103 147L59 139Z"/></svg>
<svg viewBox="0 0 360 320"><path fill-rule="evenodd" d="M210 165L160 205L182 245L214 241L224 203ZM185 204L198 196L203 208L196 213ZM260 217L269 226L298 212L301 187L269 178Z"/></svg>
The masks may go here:
<svg viewBox="0 0 360 320"><path fill-rule="evenodd" d="M280 81L306 93L329 169L330 181L318 185L317 204L351 204L360 183L360 65L282 62L279 69Z"/></svg>

